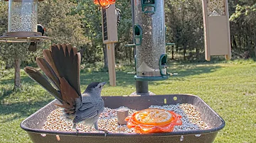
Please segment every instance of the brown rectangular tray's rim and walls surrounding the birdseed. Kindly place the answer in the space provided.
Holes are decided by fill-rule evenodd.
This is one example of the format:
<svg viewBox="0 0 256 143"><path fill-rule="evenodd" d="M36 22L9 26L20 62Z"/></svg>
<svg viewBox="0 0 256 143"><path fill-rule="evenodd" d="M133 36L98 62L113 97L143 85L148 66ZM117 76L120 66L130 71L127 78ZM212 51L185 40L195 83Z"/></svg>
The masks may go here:
<svg viewBox="0 0 256 143"><path fill-rule="evenodd" d="M79 133L76 132L60 132L60 131L48 131L42 130L44 122L46 122L47 116L51 111L55 110L57 101L54 100L48 105L44 106L33 115L26 118L21 122L21 128L26 130L29 137L34 143L94 143L94 142L121 142L121 143L155 143L155 142L169 142L169 143L210 143L213 142L218 131L223 129L225 121L215 111L210 108L201 98L193 95L159 95L159 96L103 96L105 101L105 107L119 108L120 106L126 106L135 110L142 110L149 108L150 105L171 105L177 103L190 103L196 107L196 110L201 113L201 118L204 122L210 125L208 130L192 130L183 132L166 132L166 133L154 133L154 134L136 134L136 133L108 133L107 137L104 137L104 133ZM166 99L166 104L164 100ZM176 99L176 100L174 100ZM42 136L44 134L46 136ZM56 138L59 135L60 141Z"/></svg>

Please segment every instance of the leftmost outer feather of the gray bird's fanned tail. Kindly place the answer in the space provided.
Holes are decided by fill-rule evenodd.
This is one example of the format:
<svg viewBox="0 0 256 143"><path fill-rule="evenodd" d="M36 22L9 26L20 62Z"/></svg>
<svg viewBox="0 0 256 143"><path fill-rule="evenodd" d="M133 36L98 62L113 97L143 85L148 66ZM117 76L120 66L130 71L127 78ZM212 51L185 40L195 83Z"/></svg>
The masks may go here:
<svg viewBox="0 0 256 143"><path fill-rule="evenodd" d="M63 98L60 95L60 92L57 91L53 86L49 83L49 81L35 68L33 67L25 67L24 71L28 76L40 84L43 88L48 91L51 95L53 95L60 103L63 103Z"/></svg>

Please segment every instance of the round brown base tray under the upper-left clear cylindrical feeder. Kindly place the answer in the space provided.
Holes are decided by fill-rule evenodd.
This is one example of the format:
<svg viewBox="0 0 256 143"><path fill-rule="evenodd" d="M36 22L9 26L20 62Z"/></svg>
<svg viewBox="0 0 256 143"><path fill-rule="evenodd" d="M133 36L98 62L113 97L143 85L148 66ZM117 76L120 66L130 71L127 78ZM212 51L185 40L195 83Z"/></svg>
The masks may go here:
<svg viewBox="0 0 256 143"><path fill-rule="evenodd" d="M0 37L0 42L41 42L43 40L50 40L50 37L42 36L39 32L29 32L29 31L18 31L4 33Z"/></svg>

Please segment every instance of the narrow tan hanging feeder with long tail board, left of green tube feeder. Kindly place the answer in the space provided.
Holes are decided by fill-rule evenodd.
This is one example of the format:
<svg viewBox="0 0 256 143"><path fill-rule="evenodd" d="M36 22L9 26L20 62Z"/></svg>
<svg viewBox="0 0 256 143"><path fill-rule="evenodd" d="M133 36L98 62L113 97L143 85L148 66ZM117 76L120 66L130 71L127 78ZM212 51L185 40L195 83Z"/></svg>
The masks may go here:
<svg viewBox="0 0 256 143"><path fill-rule="evenodd" d="M107 44L107 65L110 76L110 85L116 86L114 42L117 38L117 16L115 5L112 4L107 9L102 9L102 39Z"/></svg>

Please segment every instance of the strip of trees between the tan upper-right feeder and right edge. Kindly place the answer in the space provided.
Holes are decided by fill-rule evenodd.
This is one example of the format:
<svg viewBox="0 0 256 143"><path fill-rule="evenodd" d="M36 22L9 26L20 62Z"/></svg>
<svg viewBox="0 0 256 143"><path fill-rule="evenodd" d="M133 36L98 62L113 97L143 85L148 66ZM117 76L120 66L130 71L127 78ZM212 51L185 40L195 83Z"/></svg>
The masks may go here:
<svg viewBox="0 0 256 143"><path fill-rule="evenodd" d="M231 43L235 52L256 57L256 1L230 1Z"/></svg>

